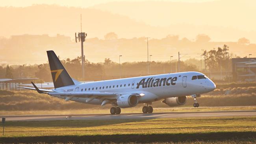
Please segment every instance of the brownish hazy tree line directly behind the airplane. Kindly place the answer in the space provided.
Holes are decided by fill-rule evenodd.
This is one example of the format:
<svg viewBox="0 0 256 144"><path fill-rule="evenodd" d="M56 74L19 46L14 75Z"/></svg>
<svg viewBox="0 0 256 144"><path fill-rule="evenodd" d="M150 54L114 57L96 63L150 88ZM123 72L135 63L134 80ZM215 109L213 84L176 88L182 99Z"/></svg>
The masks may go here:
<svg viewBox="0 0 256 144"><path fill-rule="evenodd" d="M201 70L198 59L188 59L180 61L180 72L219 72L219 70L230 71L232 54L228 53L229 47L213 48L210 51L204 50L202 55L206 57L206 68ZM85 79L82 79L81 57L75 59L63 59L61 63L69 72L70 76L80 81L97 81L106 79L128 78L134 76L146 76L148 74L163 74L178 72L178 61L147 61L115 63L106 58L103 63L91 63L85 60ZM147 66L149 66L149 73ZM13 65L0 66L0 78L39 78L41 81L52 81L50 67L48 63L39 65Z"/></svg>

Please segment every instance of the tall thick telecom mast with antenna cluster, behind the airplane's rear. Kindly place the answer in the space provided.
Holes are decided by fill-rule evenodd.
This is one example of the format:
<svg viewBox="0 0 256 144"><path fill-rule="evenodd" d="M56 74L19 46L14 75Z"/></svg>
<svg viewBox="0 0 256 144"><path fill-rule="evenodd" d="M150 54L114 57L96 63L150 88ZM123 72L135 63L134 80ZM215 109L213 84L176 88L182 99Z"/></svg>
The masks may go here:
<svg viewBox="0 0 256 144"><path fill-rule="evenodd" d="M77 39L79 42L81 42L81 59L82 59L82 78L84 80L84 61L85 61L85 56L83 55L83 42L85 41L85 38L87 37L87 33L82 32L82 14L80 15L80 25L81 25L81 32L78 33L78 37L76 36L75 33L75 39L77 42Z"/></svg>

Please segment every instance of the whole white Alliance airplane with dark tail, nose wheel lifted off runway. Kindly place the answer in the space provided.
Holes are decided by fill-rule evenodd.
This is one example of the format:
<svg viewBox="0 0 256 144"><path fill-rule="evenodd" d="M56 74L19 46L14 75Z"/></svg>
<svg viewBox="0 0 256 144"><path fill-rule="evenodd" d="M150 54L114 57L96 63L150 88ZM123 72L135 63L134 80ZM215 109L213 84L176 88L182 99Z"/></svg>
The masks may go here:
<svg viewBox="0 0 256 144"><path fill-rule="evenodd" d="M54 89L39 89L32 82L32 87L20 87L37 90L40 94L48 94L65 101L106 105L111 104L111 114L120 114L121 108L135 107L145 103L143 113L152 113L152 102L163 100L170 107L184 105L187 96L195 100L194 107L201 94L216 88L215 83L200 72L178 72L122 78L81 83L72 79L59 61L54 51L47 51L48 61L54 83Z"/></svg>

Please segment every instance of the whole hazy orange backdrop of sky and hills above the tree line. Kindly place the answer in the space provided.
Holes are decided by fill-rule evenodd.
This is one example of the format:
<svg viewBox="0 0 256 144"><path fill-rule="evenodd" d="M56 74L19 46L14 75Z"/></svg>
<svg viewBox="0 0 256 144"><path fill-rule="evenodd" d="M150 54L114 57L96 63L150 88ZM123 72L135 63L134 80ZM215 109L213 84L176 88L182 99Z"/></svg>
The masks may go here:
<svg viewBox="0 0 256 144"><path fill-rule="evenodd" d="M82 31L88 34L85 56L93 55L94 59L89 60L94 62L104 61L103 56L95 58L95 55L115 57L114 61L118 61L116 55L124 54L127 50L130 55L136 50L136 54L143 55L143 58L124 56L124 61L144 61L147 44L145 39L141 39L143 37L151 38L150 54L159 55L152 57L156 61L167 61L170 54L176 55L178 51L184 54L189 50L198 54L202 49L210 50L224 44L228 44L234 54L244 57L252 53L256 43L254 6L254 0L4 1L0 4L0 50L3 52L0 60L15 59L15 63L20 63L21 59L45 61L43 54L49 49L56 50L61 57L80 55L80 45L74 43L74 33L80 31L80 14ZM117 34L114 41L105 38L110 32ZM35 36L28 38L25 35L24 40L24 34ZM49 40L58 39L55 38L57 34L70 37L71 41L69 38L59 43ZM196 42L198 34L208 35L208 43ZM20 38L18 43L22 50L17 50L10 42L13 35ZM44 35L41 38L48 40L37 39L37 35ZM237 45L238 39L243 37L249 43L246 46ZM45 42L37 43L41 41ZM9 57L13 50L19 54ZM161 56L163 54L166 55L164 58Z"/></svg>

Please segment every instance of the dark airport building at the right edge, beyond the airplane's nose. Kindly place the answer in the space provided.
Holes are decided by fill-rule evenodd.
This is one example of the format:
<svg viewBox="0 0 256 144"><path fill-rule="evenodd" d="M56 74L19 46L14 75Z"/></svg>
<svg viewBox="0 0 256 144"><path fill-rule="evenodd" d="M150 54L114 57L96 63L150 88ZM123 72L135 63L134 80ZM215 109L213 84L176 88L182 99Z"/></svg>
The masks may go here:
<svg viewBox="0 0 256 144"><path fill-rule="evenodd" d="M233 58L234 81L256 81L256 58Z"/></svg>

